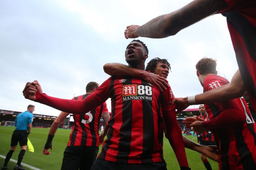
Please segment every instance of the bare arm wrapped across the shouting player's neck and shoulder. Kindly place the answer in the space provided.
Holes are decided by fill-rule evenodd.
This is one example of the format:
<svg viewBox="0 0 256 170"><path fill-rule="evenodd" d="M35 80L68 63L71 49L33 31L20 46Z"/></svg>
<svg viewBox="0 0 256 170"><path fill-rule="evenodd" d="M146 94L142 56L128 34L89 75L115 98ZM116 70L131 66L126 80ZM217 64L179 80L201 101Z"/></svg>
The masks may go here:
<svg viewBox="0 0 256 170"><path fill-rule="evenodd" d="M107 63L103 66L105 73L110 76L134 76L140 77L155 85L158 89L165 90L168 88L168 81L166 78L162 78L159 75L149 73L144 70L138 70L120 63Z"/></svg>

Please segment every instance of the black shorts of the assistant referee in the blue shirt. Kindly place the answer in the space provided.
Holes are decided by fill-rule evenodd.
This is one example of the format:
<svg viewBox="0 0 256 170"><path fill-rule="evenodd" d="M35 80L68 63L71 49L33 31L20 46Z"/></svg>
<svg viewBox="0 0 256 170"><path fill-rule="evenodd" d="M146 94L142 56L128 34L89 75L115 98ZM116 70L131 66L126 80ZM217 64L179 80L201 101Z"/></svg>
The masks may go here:
<svg viewBox="0 0 256 170"><path fill-rule="evenodd" d="M27 145L27 136L27 130L14 130L12 133L11 146L16 146L18 142L20 143L20 146Z"/></svg>

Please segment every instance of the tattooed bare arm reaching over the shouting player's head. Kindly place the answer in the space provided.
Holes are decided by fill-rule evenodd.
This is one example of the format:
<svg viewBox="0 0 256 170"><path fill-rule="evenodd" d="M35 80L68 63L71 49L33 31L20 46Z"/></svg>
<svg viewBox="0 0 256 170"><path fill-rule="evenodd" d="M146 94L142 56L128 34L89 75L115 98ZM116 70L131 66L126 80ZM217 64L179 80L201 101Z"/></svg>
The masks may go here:
<svg viewBox="0 0 256 170"><path fill-rule="evenodd" d="M168 37L226 7L224 0L194 0L177 11L152 19L143 26L127 26L124 36L126 39Z"/></svg>

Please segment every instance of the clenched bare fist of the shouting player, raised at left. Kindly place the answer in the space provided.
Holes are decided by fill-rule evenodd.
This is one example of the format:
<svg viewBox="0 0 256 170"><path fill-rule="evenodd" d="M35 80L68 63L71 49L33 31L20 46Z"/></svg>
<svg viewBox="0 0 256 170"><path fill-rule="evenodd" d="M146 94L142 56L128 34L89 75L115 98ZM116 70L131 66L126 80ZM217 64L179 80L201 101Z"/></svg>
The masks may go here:
<svg viewBox="0 0 256 170"><path fill-rule="evenodd" d="M27 82L27 84L25 85L23 92L23 96L26 99L29 100L36 100L36 93L42 93L42 88L41 85L38 83L37 80L34 80L33 82Z"/></svg>

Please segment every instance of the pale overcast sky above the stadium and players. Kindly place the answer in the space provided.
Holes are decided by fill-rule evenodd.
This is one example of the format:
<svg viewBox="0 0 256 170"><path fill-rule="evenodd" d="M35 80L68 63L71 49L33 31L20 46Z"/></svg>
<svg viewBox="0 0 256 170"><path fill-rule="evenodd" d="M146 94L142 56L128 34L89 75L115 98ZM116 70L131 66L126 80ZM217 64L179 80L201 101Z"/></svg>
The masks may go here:
<svg viewBox="0 0 256 170"><path fill-rule="evenodd" d="M132 39L126 26L143 25L159 15L178 10L190 0L0 1L0 109L20 111L29 104L35 114L60 111L27 100L26 82L38 80L48 95L72 99L85 93L90 81L103 83L105 63L125 63ZM219 75L231 80L238 69L226 18L217 14L175 36L139 38L148 46L146 63L166 58L172 72L168 81L175 97L203 92L195 65L202 57L217 59ZM111 111L110 102L107 102ZM193 108L193 106L191 106ZM196 106L197 107L197 106Z"/></svg>

